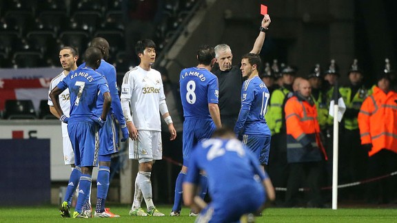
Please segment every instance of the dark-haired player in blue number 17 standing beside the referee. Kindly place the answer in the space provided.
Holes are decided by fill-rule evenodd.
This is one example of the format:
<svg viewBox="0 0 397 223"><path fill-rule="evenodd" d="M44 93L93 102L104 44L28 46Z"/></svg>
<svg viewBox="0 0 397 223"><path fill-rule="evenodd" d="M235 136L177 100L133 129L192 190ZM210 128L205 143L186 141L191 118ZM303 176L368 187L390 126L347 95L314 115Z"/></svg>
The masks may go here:
<svg viewBox="0 0 397 223"><path fill-rule="evenodd" d="M267 127L265 114L270 94L259 78L259 67L261 58L258 54L242 56L240 70L247 81L244 81L241 89L241 109L234 133L255 153L261 164L267 164L272 134Z"/></svg>

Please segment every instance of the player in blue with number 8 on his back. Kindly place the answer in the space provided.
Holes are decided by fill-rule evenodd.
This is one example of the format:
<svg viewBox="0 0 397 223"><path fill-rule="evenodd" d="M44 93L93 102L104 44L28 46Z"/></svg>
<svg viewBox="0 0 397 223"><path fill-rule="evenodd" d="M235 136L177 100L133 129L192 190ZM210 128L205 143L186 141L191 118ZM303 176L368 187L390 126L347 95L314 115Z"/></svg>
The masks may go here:
<svg viewBox="0 0 397 223"><path fill-rule="evenodd" d="M171 216L179 216L182 202L182 183L193 147L205 138L210 138L215 128L220 128L218 107L218 78L210 72L215 63L214 47L203 45L197 52L199 65L181 71L179 83L183 106L183 167L176 178L174 206ZM200 175L201 197L207 193L207 176ZM195 215L195 213L190 214Z"/></svg>

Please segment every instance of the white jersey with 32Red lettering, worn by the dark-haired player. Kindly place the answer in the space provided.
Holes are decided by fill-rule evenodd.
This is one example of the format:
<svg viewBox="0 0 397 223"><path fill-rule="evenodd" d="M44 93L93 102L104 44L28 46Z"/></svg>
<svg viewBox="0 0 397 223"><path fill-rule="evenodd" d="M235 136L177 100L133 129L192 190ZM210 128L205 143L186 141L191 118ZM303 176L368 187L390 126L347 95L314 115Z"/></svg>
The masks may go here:
<svg viewBox="0 0 397 223"><path fill-rule="evenodd" d="M165 95L160 72L134 67L125 73L120 98L130 102L136 129L161 131L160 101Z"/></svg>

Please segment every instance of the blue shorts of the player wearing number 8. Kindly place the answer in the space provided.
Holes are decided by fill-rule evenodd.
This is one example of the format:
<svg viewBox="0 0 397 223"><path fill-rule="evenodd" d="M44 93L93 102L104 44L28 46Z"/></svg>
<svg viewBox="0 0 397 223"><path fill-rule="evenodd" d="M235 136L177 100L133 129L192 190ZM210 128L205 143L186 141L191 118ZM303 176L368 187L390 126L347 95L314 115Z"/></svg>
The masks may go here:
<svg viewBox="0 0 397 223"><path fill-rule="evenodd" d="M215 124L211 118L185 118L183 122L183 165L187 167L190 153L197 142L211 138L215 131Z"/></svg>

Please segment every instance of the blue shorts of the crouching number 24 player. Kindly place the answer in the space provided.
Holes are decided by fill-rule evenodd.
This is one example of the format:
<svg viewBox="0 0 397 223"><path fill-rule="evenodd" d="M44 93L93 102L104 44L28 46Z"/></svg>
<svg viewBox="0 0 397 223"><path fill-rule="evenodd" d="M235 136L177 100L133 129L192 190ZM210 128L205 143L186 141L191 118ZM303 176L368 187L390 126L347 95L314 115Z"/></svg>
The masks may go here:
<svg viewBox="0 0 397 223"><path fill-rule="evenodd" d="M232 193L225 193L222 199L212 200L201 211L196 222L239 222L242 215L254 213L264 203L265 189L261 184L256 183L252 187L243 187Z"/></svg>

